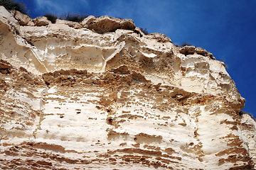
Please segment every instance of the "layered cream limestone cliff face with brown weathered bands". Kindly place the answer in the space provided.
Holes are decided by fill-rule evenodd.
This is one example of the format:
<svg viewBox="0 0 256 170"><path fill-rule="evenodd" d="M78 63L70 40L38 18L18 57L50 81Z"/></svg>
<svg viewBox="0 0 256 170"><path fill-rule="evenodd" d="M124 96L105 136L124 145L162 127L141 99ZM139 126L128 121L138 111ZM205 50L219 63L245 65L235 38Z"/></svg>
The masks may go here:
<svg viewBox="0 0 256 170"><path fill-rule="evenodd" d="M2 6L0 34L1 169L254 169L255 120L201 47Z"/></svg>

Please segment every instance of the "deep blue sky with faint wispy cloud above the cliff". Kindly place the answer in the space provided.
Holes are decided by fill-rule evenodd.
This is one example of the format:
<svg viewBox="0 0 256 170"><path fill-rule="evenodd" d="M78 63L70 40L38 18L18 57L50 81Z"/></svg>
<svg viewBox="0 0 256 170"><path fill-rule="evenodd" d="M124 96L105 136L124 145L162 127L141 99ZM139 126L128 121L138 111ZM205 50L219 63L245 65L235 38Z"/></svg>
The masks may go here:
<svg viewBox="0 0 256 170"><path fill-rule="evenodd" d="M247 100L243 111L256 118L255 0L23 0L31 18L71 11L94 16L132 18L149 33L164 33L181 45L189 42L212 52L228 65L228 73Z"/></svg>

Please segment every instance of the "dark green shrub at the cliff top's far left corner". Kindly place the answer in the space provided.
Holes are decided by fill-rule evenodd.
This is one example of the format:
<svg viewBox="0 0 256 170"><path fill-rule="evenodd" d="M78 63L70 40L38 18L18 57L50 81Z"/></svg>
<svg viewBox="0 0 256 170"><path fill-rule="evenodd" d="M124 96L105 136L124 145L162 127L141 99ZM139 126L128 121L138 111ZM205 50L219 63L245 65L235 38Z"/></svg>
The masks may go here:
<svg viewBox="0 0 256 170"><path fill-rule="evenodd" d="M14 9L28 15L27 7L23 2L17 2L13 0L0 0L0 6L4 6L7 10Z"/></svg>

